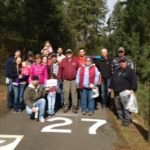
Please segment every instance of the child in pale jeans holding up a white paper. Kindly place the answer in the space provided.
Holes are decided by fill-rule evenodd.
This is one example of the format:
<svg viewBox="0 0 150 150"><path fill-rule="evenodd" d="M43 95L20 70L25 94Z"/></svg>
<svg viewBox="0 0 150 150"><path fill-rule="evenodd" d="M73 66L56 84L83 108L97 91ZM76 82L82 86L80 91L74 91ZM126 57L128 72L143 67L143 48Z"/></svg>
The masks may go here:
<svg viewBox="0 0 150 150"><path fill-rule="evenodd" d="M58 80L54 74L50 79L46 80L45 87L49 88L49 93L47 95L48 116L51 117L55 115L56 92L58 91Z"/></svg>

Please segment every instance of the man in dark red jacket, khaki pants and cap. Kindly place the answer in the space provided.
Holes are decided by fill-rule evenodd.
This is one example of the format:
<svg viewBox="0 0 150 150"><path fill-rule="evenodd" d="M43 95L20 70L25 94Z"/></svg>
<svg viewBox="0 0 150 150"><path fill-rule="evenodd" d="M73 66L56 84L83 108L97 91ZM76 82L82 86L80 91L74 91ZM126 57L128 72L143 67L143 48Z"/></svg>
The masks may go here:
<svg viewBox="0 0 150 150"><path fill-rule="evenodd" d="M77 89L76 89L76 73L80 67L79 62L73 57L71 49L66 51L66 58L64 58L59 67L58 79L63 81L64 91L64 112L69 110L70 101L69 95L71 92L72 98L72 111L77 113Z"/></svg>

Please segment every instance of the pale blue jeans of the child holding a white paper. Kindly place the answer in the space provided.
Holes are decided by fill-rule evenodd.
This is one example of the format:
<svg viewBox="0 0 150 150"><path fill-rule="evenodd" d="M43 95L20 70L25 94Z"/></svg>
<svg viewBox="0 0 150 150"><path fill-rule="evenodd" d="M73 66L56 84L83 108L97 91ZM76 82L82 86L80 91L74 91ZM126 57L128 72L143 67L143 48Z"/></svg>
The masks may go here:
<svg viewBox="0 0 150 150"><path fill-rule="evenodd" d="M48 94L47 95L47 100L48 100L48 114L52 115L54 114L54 110L55 110L55 101L56 101L56 94Z"/></svg>

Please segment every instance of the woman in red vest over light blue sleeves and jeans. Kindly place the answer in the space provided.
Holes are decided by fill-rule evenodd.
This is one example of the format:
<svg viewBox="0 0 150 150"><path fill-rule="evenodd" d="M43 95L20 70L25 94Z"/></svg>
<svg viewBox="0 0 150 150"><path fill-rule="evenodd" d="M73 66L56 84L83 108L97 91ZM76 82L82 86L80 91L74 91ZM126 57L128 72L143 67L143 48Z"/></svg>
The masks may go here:
<svg viewBox="0 0 150 150"><path fill-rule="evenodd" d="M92 89L98 85L100 72L92 59L87 57L85 65L81 66L77 71L76 83L81 94L82 114L89 116L94 114L94 99L92 98Z"/></svg>

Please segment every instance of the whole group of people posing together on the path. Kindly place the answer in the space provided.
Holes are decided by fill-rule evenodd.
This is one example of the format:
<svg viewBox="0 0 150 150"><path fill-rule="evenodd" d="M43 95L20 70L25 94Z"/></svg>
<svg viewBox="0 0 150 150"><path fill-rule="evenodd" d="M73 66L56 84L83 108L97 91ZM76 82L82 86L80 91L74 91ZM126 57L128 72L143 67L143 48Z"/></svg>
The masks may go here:
<svg viewBox="0 0 150 150"><path fill-rule="evenodd" d="M31 118L45 122L45 114L55 114L59 102L63 112L69 109L77 113L92 116L95 111L93 89L100 89L101 104L107 109L110 92L115 94L115 106L123 125L131 123L130 112L123 108L119 93L128 89L137 90L136 74L132 61L125 55L125 49L118 49L118 56L109 58L108 50L103 48L101 59L94 60L86 56L84 48L79 49L78 56L71 49L58 48L53 52L46 41L39 54L28 51L27 59L22 60L21 51L6 62L6 84L8 87L8 109L20 112L25 109Z"/></svg>

